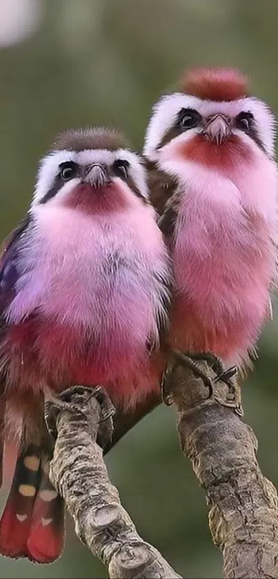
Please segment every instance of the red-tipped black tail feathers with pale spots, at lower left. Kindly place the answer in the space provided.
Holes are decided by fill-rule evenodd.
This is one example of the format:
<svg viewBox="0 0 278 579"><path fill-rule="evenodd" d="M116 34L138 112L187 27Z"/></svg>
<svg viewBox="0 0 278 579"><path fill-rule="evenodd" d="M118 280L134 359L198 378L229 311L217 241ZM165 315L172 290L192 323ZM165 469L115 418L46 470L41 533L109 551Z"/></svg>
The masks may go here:
<svg viewBox="0 0 278 579"><path fill-rule="evenodd" d="M32 445L17 459L0 521L0 553L50 563L63 548L63 500L48 479L48 459L42 452Z"/></svg>

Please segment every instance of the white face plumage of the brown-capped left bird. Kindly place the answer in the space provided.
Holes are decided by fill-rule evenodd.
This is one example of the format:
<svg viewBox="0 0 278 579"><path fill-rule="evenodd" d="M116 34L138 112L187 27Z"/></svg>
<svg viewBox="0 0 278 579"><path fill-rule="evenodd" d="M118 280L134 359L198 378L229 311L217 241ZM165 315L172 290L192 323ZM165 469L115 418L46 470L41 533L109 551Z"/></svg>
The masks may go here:
<svg viewBox="0 0 278 579"><path fill-rule="evenodd" d="M123 161L123 170L121 170ZM65 165L72 166L68 173ZM32 206L41 203L57 202L57 200L72 193L82 182L82 173L92 164L106 166L111 171L114 182L121 181L137 188L143 199L148 200L148 185L146 171L141 158L130 150L116 151L106 149L84 149L81 151L54 150L44 157L39 166L37 184L34 190ZM53 194L52 194L53 193Z"/></svg>

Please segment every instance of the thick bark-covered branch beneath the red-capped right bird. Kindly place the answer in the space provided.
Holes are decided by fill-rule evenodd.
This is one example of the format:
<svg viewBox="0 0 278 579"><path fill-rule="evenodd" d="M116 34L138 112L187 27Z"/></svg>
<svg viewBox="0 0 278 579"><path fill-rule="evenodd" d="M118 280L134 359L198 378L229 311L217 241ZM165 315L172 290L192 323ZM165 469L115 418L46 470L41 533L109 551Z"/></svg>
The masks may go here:
<svg viewBox="0 0 278 579"><path fill-rule="evenodd" d="M173 369L168 380L181 449L206 491L224 578L278 578L277 491L259 469L255 434L235 411L208 400L203 382L187 369ZM226 386L215 389L224 400Z"/></svg>

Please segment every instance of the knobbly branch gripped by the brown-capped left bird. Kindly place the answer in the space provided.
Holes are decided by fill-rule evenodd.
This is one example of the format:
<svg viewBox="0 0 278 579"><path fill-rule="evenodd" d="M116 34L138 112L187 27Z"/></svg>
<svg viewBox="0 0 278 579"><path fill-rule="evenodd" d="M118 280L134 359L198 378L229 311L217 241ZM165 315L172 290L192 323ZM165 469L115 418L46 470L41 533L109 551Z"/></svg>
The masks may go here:
<svg viewBox="0 0 278 579"><path fill-rule="evenodd" d="M104 425L96 398L84 391L68 403L48 402L46 418L52 431L57 427L50 479L66 501L77 536L108 567L110 578L180 578L138 535L121 506L96 442L99 424Z"/></svg>

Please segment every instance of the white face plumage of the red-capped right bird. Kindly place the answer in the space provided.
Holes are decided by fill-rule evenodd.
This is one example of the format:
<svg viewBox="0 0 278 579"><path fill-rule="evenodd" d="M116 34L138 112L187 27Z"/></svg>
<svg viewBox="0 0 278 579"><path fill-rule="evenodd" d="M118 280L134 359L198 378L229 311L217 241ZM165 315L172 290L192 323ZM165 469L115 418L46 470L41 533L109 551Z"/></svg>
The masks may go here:
<svg viewBox="0 0 278 579"><path fill-rule="evenodd" d="M185 123L183 126L182 110L186 109L197 113L196 122L193 119L191 126L190 119L188 125ZM173 141L188 141L194 135L206 132L208 119L214 115L223 115L228 119L230 133L239 136L245 143L249 141L252 146L261 146L268 157L274 157L275 117L263 101L255 97L235 101L206 101L181 92L164 96L155 104L146 131L144 155L152 161L159 160L161 143L172 128L175 130Z"/></svg>

